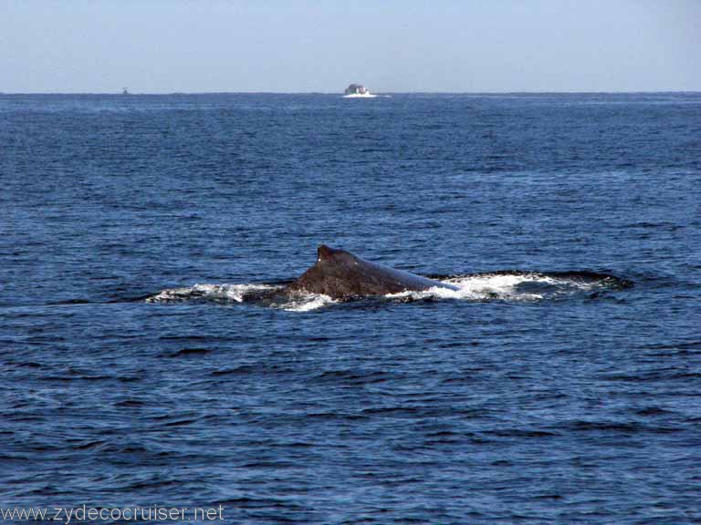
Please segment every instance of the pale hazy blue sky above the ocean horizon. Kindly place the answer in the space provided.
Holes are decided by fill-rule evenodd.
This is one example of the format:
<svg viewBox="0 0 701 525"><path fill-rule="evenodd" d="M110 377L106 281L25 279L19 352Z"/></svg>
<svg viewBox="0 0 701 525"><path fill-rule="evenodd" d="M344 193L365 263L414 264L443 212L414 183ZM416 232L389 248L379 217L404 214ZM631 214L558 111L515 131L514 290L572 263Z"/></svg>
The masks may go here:
<svg viewBox="0 0 701 525"><path fill-rule="evenodd" d="M701 0L0 0L0 92L701 91Z"/></svg>

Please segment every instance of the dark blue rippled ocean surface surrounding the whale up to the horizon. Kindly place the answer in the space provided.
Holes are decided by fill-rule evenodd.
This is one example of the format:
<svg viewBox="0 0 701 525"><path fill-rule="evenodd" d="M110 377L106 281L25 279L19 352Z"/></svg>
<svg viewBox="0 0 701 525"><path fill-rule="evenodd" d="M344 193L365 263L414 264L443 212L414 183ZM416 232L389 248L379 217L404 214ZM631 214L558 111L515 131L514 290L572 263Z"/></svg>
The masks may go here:
<svg viewBox="0 0 701 525"><path fill-rule="evenodd" d="M701 94L5 95L0 183L0 510L701 522Z"/></svg>

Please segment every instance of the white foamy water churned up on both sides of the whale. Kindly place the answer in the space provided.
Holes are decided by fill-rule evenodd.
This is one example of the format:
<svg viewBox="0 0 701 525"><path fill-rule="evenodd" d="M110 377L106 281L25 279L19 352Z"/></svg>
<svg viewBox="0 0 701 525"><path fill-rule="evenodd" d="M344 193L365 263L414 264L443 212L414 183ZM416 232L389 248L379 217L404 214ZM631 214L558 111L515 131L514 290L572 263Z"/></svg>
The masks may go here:
<svg viewBox="0 0 701 525"><path fill-rule="evenodd" d="M592 272L520 272L498 271L465 275L432 276L457 290L430 288L421 292L389 293L368 301L408 303L427 300L463 300L472 302L504 301L536 303L568 298L597 298L602 293L633 285L606 273ZM146 303L170 304L205 302L215 304L258 304L290 312L309 312L341 303L318 293L285 293L284 283L275 284L194 284L170 288L148 296Z"/></svg>

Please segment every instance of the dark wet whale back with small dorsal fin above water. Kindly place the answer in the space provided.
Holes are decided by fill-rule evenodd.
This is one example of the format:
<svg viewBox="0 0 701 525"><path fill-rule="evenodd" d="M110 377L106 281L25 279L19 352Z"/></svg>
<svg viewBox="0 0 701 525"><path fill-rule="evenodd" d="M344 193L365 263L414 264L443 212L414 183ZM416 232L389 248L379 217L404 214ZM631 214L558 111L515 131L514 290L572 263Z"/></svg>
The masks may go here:
<svg viewBox="0 0 701 525"><path fill-rule="evenodd" d="M420 275L369 262L345 250L319 246L317 262L288 286L288 292L323 293L333 299L353 299L429 288L457 290Z"/></svg>

